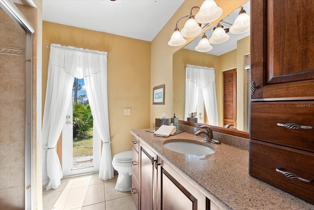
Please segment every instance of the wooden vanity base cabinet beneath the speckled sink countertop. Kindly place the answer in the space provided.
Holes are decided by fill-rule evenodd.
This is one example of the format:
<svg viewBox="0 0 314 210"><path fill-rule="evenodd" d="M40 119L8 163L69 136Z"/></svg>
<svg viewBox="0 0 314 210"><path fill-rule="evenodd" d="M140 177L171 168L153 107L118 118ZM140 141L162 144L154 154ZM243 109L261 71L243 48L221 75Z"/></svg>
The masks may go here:
<svg viewBox="0 0 314 210"><path fill-rule="evenodd" d="M136 150L134 149L133 152L136 153ZM138 195L137 210L220 210L141 141L139 141L138 154L139 182L136 181L134 171L132 174L132 186L138 184L138 193L132 194L133 198L134 195Z"/></svg>

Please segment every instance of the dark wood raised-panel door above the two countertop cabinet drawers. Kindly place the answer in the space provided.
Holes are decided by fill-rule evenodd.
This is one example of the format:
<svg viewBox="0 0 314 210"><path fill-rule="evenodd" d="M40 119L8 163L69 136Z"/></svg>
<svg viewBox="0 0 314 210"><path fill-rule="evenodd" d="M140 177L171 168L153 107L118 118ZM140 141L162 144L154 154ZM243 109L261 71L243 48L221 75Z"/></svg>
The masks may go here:
<svg viewBox="0 0 314 210"><path fill-rule="evenodd" d="M253 101L314 99L313 11L313 0L251 0Z"/></svg>

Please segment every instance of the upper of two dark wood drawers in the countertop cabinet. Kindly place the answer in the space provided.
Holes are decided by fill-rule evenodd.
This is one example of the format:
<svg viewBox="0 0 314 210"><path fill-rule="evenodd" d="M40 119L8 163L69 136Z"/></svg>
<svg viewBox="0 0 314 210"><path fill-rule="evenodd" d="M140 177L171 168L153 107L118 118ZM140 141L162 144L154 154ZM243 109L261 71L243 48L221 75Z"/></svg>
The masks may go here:
<svg viewBox="0 0 314 210"><path fill-rule="evenodd" d="M251 103L250 138L314 151L314 129L291 128L277 123L314 127L314 101ZM292 129L294 128L294 129Z"/></svg>

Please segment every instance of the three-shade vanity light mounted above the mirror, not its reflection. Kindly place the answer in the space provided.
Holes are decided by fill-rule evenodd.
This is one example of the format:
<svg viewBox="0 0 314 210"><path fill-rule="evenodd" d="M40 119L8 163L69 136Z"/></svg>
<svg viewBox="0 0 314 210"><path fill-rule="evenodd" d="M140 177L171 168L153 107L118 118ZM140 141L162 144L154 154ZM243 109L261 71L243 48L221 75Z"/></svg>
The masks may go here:
<svg viewBox="0 0 314 210"><path fill-rule="evenodd" d="M200 11L197 13L198 21L196 21L194 18L195 16L192 14L192 10L194 8L200 9ZM188 18L186 23L184 24L183 29L181 32L178 28L178 22L182 20L183 18L180 18L177 21L176 27L174 29L174 32L171 36L171 39L168 42L168 45L170 46L181 46L186 43L186 40L183 37L194 37L197 36L202 32L201 24L210 24L212 21L219 18L222 14L222 9L217 6L216 2L214 0L205 0L201 7L193 6L191 8L191 12L189 15L184 16L183 18Z"/></svg>

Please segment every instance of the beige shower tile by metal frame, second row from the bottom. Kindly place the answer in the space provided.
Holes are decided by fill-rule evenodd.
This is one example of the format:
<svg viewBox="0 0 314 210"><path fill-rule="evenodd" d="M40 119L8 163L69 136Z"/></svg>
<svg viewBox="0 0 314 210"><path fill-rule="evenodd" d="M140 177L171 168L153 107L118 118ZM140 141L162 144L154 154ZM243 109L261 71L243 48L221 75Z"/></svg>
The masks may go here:
<svg viewBox="0 0 314 210"><path fill-rule="evenodd" d="M24 186L25 184L24 164L9 166L9 187Z"/></svg>

